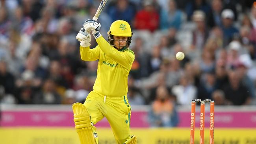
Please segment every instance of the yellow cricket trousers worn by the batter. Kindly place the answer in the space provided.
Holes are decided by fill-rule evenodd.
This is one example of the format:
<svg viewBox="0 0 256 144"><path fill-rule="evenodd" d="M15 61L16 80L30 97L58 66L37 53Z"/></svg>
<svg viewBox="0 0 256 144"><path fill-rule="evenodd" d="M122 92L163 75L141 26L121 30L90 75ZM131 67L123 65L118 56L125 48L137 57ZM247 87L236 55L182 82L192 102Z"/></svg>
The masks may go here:
<svg viewBox="0 0 256 144"><path fill-rule="evenodd" d="M83 104L93 124L104 117L107 118L117 144L123 144L129 139L131 107L127 96L110 97L91 91ZM93 127L93 133L95 132L96 129Z"/></svg>

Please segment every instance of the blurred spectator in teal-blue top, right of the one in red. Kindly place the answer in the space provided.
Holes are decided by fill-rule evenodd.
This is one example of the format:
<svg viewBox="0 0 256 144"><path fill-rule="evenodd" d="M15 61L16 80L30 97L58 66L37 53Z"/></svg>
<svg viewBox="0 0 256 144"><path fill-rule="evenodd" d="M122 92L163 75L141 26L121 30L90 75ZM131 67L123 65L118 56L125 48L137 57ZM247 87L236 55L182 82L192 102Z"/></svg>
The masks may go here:
<svg viewBox="0 0 256 144"><path fill-rule="evenodd" d="M169 28L179 30L182 24L182 17L182 11L177 9L175 0L169 0L168 9L162 9L160 13L161 30Z"/></svg>

